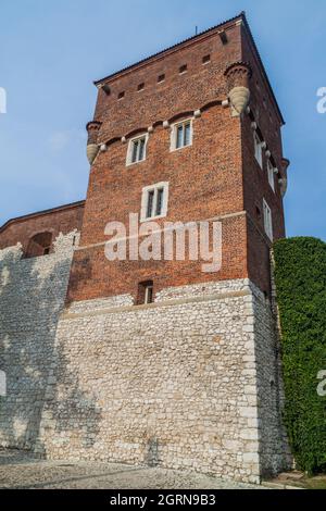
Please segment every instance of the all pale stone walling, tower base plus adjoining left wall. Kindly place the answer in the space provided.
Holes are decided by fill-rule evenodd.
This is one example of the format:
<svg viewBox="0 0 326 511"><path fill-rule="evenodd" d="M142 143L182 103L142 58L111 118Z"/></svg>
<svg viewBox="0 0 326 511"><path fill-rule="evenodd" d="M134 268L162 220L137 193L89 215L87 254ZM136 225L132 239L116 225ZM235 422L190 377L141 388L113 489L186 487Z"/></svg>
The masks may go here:
<svg viewBox="0 0 326 511"><path fill-rule="evenodd" d="M0 251L0 446L259 483L286 465L278 341L248 279L64 298L76 233Z"/></svg>

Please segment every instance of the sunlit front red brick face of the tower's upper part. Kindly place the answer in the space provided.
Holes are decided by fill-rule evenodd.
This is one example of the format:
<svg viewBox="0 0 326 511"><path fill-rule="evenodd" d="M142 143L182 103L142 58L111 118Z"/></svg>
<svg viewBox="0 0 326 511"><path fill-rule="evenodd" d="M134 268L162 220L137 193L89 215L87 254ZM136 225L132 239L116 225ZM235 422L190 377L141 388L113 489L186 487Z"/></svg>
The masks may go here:
<svg viewBox="0 0 326 511"><path fill-rule="evenodd" d="M99 141L115 141L100 153L92 165L82 232L82 250L75 253L68 300L98 298L131 292L138 283L153 279L154 291L166 286L208 282L214 278L247 276L246 220L223 222L223 266L218 274L204 274L200 262L120 262L105 259L104 247L88 248L108 238L109 221L128 222L128 214L139 213L142 188L159 182L170 183L166 219L159 221L200 221L243 211L241 176L241 128L229 109L210 104L193 120L193 144L170 152L171 130L163 121L187 119L189 112L220 102L227 97L225 68L240 59L240 27L228 30L223 46L214 33L191 47L134 70L110 83L111 95L99 92L96 120L102 122ZM202 58L211 55L209 64ZM187 73L178 74L183 64ZM158 76L165 82L158 84ZM145 89L137 91L145 83ZM120 91L123 100L117 100ZM184 115L183 115L184 114ZM127 145L122 136L141 133L154 125L149 135L147 159L126 166Z"/></svg>

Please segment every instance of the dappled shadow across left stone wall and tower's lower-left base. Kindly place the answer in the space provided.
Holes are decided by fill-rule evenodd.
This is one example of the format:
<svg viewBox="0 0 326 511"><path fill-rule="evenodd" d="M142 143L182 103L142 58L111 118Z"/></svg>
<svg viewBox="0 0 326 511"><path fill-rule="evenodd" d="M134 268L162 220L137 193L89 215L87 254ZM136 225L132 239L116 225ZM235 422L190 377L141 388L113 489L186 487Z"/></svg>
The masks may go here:
<svg viewBox="0 0 326 511"><path fill-rule="evenodd" d="M72 253L72 242L65 251L33 259L21 259L20 246L0 251L0 369L7 374L7 396L0 397L0 447L46 454L41 428L47 428L49 408L54 436L79 432L79 417L87 415L85 447L96 441L101 412L93 396L79 388L77 375L55 345ZM61 381L63 400L58 395Z"/></svg>

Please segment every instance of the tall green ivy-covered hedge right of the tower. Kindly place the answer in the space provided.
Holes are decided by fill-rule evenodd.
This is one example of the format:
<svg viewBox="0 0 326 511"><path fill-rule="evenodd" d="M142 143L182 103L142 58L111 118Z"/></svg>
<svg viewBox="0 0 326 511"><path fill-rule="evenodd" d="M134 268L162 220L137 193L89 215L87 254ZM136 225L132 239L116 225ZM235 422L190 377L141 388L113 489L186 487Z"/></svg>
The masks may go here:
<svg viewBox="0 0 326 511"><path fill-rule="evenodd" d="M326 396L317 392L317 375L326 371L326 244L283 239L274 254L285 422L298 466L310 474L326 472Z"/></svg>

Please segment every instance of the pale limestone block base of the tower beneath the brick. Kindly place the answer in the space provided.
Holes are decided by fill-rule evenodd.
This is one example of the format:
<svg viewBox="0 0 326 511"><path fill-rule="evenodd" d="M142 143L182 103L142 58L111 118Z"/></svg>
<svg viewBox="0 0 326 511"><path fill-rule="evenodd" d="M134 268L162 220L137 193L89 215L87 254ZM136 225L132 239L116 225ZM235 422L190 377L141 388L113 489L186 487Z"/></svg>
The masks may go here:
<svg viewBox="0 0 326 511"><path fill-rule="evenodd" d="M150 306L73 304L58 325L37 452L255 483L281 469L277 392L265 396L268 310L243 279L168 288Z"/></svg>

